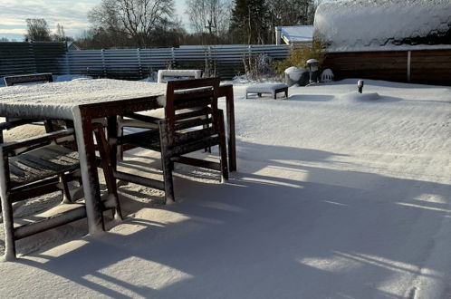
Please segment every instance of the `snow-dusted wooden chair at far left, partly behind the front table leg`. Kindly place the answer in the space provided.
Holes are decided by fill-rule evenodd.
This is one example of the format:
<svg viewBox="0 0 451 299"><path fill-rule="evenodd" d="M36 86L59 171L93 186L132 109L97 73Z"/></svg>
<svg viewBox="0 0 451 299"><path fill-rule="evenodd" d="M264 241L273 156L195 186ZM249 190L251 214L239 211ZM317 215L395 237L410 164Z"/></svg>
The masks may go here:
<svg viewBox="0 0 451 299"><path fill-rule="evenodd" d="M43 136L19 140L0 145L0 198L5 229L5 259L15 258L15 241L32 236L53 227L59 227L72 221L86 217L86 209L82 203L67 205L66 210L49 217L14 226L13 203L35 198L61 189L60 178L79 179L80 169L78 152L53 140L73 135L73 129L58 130ZM101 125L95 127L95 136L101 153L101 165L104 171L109 194L116 200L102 203L105 209L114 208L120 214L120 205L116 184L110 168L110 153L107 140ZM21 149L28 151L15 154ZM64 191L69 190L64 188Z"/></svg>

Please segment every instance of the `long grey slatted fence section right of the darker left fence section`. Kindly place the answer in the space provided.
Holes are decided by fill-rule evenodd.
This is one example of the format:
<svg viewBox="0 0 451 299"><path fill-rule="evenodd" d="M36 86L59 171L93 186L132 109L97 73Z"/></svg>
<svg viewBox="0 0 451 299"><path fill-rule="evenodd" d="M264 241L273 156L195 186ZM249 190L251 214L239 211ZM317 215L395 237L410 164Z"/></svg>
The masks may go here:
<svg viewBox="0 0 451 299"><path fill-rule="evenodd" d="M200 69L221 78L232 78L245 72L243 58L246 55L264 54L273 60L281 60L289 51L288 45L274 44L71 51L66 55L64 72L138 79L172 67Z"/></svg>

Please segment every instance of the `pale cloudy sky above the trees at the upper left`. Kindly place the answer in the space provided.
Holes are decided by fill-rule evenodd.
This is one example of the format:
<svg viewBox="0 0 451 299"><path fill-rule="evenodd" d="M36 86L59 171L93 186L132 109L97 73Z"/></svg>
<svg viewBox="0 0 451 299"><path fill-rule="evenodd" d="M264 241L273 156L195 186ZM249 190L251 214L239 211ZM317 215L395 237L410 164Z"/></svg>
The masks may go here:
<svg viewBox="0 0 451 299"><path fill-rule="evenodd" d="M176 14L187 23L185 0L175 0ZM0 0L0 38L24 40L25 19L44 18L52 31L62 24L66 35L76 37L88 29L87 12L101 0Z"/></svg>

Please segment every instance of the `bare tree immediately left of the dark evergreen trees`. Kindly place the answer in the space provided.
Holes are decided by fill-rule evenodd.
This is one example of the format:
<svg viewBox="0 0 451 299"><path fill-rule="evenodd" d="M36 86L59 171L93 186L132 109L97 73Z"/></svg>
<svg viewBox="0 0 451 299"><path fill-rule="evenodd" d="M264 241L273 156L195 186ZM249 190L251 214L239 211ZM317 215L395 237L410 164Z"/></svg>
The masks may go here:
<svg viewBox="0 0 451 299"><path fill-rule="evenodd" d="M187 0L189 22L196 34L206 33L207 42L226 34L232 11L230 0Z"/></svg>

